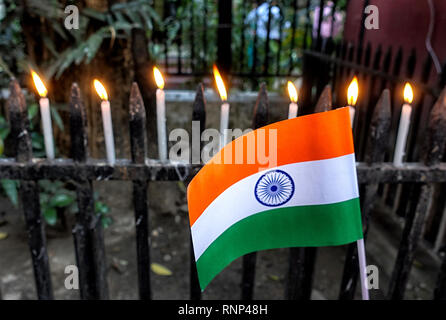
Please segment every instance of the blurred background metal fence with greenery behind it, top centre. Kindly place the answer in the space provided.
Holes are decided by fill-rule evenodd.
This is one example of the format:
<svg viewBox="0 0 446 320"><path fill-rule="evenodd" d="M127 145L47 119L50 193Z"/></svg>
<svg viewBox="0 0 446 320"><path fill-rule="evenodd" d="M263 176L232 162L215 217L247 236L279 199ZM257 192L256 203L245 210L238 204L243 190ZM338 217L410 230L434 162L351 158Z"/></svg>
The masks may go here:
<svg viewBox="0 0 446 320"><path fill-rule="evenodd" d="M337 2L333 1L332 14ZM175 21L172 25L177 31L172 40L168 30L155 39L162 47L160 62L170 75L209 75L216 61L225 74L236 77L298 77L302 50L312 37L310 14L326 3L165 1L164 16ZM315 37L320 39L320 31Z"/></svg>

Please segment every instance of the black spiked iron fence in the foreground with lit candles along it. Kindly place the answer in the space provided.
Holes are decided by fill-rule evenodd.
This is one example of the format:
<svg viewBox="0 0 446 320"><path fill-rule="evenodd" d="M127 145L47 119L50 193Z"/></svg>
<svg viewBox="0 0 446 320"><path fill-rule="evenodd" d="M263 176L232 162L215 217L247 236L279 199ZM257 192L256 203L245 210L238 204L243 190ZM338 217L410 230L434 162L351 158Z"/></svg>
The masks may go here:
<svg viewBox="0 0 446 320"><path fill-rule="evenodd" d="M316 104L315 111L325 110L327 103L330 105L331 99L329 91L325 90ZM113 166L102 159L91 159L88 156L85 110L76 84L72 86L70 101L71 159L52 161L33 159L25 99L16 80L13 80L10 86L7 108L10 113L11 135L15 141L16 157L0 160L0 178L20 180L20 197L29 236L38 298L53 298L37 185L38 180L49 179L69 180L76 185L79 212L76 216L73 237L82 299L108 298L104 239L100 221L94 213L92 181L133 181L139 294L141 299L150 299L151 233L148 226L147 184L150 181L176 181L180 180L179 176L187 176L186 181L190 181L189 179L201 165L178 166L170 161L147 159L145 108L136 84L132 86L129 108L132 158L118 159ZM268 123L268 108L266 86L262 85L254 107L254 128ZM201 128L204 128L206 107L202 85L198 86L192 110L193 119L200 121ZM370 213L376 203L379 184L416 182L421 186L416 210L412 216L406 218L388 293L389 298L397 299L404 295L414 251L420 241L425 214L433 194L434 183L446 182L446 165L441 162L446 142L446 90L437 100L429 119L428 132L423 144L425 153L422 163L410 163L402 167L384 163L384 150L387 147L391 123L390 92L384 90L372 113L364 161L357 164L358 180L362 186L361 203L365 235L367 235ZM316 248L290 249L285 298L310 298L316 250ZM190 298L200 299L201 291L198 286L192 250L190 262ZM253 298L255 270L256 254L246 255L243 258L242 299ZM347 252L341 279L341 299L353 298L357 276L357 257L355 247L351 245ZM446 298L446 259L439 272L435 298Z"/></svg>

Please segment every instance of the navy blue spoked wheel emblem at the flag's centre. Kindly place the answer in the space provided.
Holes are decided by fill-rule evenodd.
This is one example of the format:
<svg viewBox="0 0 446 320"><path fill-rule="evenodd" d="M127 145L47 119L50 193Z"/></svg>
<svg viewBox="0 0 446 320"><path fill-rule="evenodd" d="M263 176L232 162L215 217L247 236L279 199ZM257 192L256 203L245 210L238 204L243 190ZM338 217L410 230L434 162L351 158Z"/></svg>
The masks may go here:
<svg viewBox="0 0 446 320"><path fill-rule="evenodd" d="M257 201L268 207L277 207L287 203L293 194L293 179L282 170L272 170L262 175L254 189Z"/></svg>

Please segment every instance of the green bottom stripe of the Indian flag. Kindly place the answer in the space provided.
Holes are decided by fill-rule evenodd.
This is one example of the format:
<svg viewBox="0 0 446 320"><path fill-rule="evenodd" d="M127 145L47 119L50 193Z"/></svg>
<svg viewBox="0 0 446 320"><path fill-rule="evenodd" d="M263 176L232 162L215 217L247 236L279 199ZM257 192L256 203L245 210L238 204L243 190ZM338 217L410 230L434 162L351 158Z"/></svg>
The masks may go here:
<svg viewBox="0 0 446 320"><path fill-rule="evenodd" d="M286 248L335 246L362 238L359 199L326 205L263 211L228 228L197 261L204 288L227 265L250 252Z"/></svg>

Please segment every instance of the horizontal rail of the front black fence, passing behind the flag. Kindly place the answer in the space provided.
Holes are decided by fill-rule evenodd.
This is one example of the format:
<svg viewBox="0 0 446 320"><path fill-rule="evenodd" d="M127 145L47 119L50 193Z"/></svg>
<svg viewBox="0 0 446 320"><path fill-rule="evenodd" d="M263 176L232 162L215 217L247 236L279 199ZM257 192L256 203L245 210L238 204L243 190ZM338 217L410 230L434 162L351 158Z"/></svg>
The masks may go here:
<svg viewBox="0 0 446 320"><path fill-rule="evenodd" d="M194 175L202 164L188 164L148 159L145 164L117 159L114 166L105 160L90 160L85 164L70 159L47 161L34 159L18 163L12 158L0 159L0 179L13 180L138 180L184 181ZM436 183L446 182L446 163L426 166L417 162L396 167L390 162L357 163L358 183Z"/></svg>

